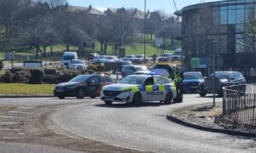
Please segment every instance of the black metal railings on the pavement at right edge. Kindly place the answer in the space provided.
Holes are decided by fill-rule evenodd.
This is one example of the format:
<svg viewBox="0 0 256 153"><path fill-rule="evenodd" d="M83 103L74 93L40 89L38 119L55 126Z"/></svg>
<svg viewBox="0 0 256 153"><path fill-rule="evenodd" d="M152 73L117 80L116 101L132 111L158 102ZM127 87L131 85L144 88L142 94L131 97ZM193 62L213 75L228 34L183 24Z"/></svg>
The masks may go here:
<svg viewBox="0 0 256 153"><path fill-rule="evenodd" d="M223 116L235 127L256 127L256 84L224 88Z"/></svg>

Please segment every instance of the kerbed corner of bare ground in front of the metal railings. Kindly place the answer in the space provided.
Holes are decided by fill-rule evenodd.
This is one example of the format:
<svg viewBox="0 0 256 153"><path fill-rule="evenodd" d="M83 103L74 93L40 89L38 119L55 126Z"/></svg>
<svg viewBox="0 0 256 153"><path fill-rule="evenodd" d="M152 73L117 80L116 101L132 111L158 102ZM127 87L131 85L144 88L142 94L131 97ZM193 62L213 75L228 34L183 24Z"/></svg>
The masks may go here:
<svg viewBox="0 0 256 153"><path fill-rule="evenodd" d="M239 129L227 127L223 122L220 122L221 115L222 102L217 102L215 107L212 107L212 103L183 107L172 111L166 118L183 126L203 131L256 137L256 133L247 133Z"/></svg>

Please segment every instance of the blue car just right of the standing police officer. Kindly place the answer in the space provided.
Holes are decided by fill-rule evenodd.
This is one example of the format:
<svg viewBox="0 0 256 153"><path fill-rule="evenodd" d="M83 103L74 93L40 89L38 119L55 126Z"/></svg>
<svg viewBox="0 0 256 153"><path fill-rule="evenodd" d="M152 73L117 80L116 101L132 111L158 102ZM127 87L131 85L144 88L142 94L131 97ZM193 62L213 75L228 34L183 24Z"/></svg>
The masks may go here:
<svg viewBox="0 0 256 153"><path fill-rule="evenodd" d="M183 91L184 92L199 92L199 85L204 82L204 77L200 71L189 71L183 74Z"/></svg>

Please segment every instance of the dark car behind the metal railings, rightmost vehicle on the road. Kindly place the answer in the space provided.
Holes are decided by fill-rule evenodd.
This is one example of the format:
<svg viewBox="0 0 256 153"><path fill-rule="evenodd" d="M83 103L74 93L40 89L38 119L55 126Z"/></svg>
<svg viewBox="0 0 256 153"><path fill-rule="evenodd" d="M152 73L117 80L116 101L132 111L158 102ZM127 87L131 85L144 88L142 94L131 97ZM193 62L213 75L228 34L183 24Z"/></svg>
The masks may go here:
<svg viewBox="0 0 256 153"><path fill-rule="evenodd" d="M215 77L215 93L218 96L223 95L223 87L246 83L245 77L238 71L216 71ZM205 82L201 82L201 97L205 97L207 94L213 94L213 78L214 74L212 73L205 79Z"/></svg>

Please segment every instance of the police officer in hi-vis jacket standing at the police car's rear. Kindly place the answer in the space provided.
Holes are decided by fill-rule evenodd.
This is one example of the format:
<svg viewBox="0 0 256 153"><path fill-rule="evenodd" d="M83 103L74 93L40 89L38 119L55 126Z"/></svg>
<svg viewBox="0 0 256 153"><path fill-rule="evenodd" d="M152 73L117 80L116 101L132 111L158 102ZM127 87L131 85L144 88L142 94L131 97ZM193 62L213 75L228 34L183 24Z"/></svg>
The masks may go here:
<svg viewBox="0 0 256 153"><path fill-rule="evenodd" d="M181 102L183 101L183 79L183 72L176 68L172 77L172 81L175 82L177 96L180 97Z"/></svg>

